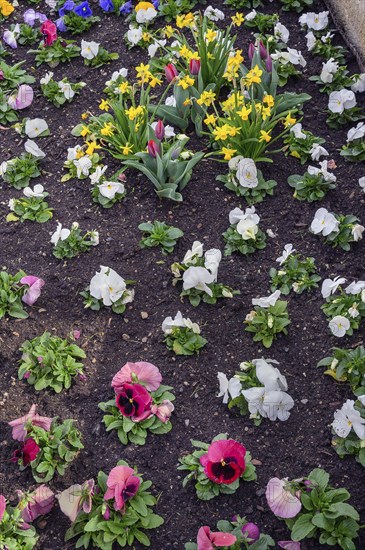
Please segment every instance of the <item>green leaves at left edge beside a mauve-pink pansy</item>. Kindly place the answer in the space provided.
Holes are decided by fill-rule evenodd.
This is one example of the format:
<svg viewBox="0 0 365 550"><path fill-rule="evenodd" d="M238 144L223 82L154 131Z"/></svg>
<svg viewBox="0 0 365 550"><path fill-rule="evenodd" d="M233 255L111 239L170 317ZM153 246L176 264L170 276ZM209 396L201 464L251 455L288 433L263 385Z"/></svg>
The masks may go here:
<svg viewBox="0 0 365 550"><path fill-rule="evenodd" d="M27 285L20 283L23 277L25 273L22 270L15 275L11 275L6 269L0 271L0 319L6 314L16 319L28 317L22 302L22 297L28 289Z"/></svg>

